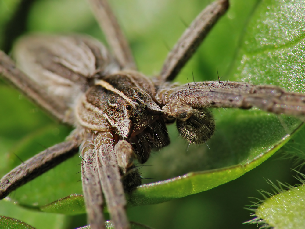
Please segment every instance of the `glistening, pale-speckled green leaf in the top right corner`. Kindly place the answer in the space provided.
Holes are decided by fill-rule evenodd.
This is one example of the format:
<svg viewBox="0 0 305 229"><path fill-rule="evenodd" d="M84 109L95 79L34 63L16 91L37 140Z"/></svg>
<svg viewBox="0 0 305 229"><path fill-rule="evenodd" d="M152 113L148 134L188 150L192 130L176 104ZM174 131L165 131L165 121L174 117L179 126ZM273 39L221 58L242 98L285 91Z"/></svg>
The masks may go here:
<svg viewBox="0 0 305 229"><path fill-rule="evenodd" d="M303 0L260 3L247 26L232 77L304 92L304 4Z"/></svg>

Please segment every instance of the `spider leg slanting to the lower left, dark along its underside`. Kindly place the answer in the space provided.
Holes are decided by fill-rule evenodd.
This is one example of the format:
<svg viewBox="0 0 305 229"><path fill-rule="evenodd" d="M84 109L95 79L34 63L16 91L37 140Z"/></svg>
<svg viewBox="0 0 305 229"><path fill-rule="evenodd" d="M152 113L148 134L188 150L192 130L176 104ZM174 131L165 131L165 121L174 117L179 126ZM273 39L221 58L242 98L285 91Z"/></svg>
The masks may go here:
<svg viewBox="0 0 305 229"><path fill-rule="evenodd" d="M1 178L0 199L5 198L16 188L72 157L78 152L78 146L79 143L76 140L68 140L49 147L17 166Z"/></svg>

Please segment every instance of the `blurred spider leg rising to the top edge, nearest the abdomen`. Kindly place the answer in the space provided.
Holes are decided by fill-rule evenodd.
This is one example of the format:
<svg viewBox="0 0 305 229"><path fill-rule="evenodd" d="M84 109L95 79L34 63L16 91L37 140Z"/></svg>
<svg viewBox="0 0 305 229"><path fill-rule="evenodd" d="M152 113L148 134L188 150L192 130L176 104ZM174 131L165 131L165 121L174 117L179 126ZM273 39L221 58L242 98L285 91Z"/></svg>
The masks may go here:
<svg viewBox="0 0 305 229"><path fill-rule="evenodd" d="M121 67L136 69L131 49L107 0L89 0L91 9Z"/></svg>

